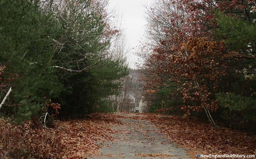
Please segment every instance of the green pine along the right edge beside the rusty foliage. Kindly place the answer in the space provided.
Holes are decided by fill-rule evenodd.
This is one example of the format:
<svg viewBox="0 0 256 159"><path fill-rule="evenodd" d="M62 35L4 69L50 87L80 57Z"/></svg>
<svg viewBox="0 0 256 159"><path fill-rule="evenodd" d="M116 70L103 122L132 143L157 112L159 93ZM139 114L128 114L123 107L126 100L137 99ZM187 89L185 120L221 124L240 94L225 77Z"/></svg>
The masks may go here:
<svg viewBox="0 0 256 159"><path fill-rule="evenodd" d="M247 8L248 9L248 8ZM241 11L240 11L241 12ZM218 29L214 35L223 40L228 51L235 52L230 59L232 72L222 79L221 93L217 94L220 105L226 110L223 118L250 120L255 123L255 73L256 73L256 13L251 11L246 16L239 12L224 14L217 11L215 21ZM230 83L230 80L233 80Z"/></svg>

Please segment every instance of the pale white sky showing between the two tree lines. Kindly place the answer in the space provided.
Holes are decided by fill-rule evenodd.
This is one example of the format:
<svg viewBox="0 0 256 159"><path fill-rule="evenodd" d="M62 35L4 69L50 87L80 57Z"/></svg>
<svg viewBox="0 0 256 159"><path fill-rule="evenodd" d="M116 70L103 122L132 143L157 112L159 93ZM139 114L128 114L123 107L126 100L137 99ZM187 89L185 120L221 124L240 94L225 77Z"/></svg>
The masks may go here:
<svg viewBox="0 0 256 159"><path fill-rule="evenodd" d="M135 55L144 34L145 7L144 4L150 4L152 0L109 0L109 9L115 9L122 16L122 27L125 29L127 43L131 51L127 55L129 67L135 68L138 57ZM134 48L134 49L132 49Z"/></svg>

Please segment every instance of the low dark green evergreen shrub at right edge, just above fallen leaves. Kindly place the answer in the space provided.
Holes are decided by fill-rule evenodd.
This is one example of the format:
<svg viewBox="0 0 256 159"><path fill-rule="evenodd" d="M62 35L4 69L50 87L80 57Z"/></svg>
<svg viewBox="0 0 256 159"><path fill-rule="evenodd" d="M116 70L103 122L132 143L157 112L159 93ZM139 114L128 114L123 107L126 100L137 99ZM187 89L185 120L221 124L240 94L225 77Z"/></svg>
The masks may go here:
<svg viewBox="0 0 256 159"><path fill-rule="evenodd" d="M218 93L220 106L217 112L219 120L225 126L256 132L256 99L235 93Z"/></svg>

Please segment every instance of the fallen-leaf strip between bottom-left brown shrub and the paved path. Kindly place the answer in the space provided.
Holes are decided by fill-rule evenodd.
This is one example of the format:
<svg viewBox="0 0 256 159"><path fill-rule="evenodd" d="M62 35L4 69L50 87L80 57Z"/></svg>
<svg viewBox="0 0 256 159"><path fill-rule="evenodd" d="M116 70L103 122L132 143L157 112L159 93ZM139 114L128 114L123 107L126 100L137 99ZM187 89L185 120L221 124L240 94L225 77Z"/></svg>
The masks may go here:
<svg viewBox="0 0 256 159"><path fill-rule="evenodd" d="M66 145L67 158L83 158L96 155L103 141L110 141L110 134L116 133L111 129L114 123L120 123L112 114L96 113L92 119L76 119L69 121L58 120L61 143Z"/></svg>

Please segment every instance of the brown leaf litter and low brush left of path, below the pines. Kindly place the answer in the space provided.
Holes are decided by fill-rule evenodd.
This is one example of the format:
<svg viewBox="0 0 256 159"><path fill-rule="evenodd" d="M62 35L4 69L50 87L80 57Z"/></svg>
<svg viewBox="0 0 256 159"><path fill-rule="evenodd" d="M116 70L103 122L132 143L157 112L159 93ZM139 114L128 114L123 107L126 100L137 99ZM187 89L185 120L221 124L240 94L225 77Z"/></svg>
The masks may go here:
<svg viewBox="0 0 256 159"><path fill-rule="evenodd" d="M53 129L34 127L28 121L22 126L0 119L0 158L85 158L96 154L97 142L111 140L112 114L93 114L92 119L54 122Z"/></svg>

